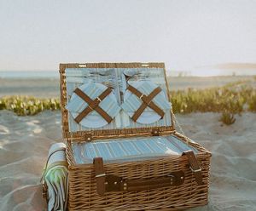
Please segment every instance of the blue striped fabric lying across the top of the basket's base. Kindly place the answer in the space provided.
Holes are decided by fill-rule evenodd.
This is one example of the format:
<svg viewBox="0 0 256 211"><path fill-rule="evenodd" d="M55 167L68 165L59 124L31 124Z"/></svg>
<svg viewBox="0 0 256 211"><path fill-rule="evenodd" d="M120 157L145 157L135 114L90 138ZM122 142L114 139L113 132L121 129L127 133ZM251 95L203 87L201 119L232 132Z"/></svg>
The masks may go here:
<svg viewBox="0 0 256 211"><path fill-rule="evenodd" d="M92 163L94 157L102 157L106 163L119 163L181 155L189 150L198 152L173 135L73 144L73 155L78 164Z"/></svg>

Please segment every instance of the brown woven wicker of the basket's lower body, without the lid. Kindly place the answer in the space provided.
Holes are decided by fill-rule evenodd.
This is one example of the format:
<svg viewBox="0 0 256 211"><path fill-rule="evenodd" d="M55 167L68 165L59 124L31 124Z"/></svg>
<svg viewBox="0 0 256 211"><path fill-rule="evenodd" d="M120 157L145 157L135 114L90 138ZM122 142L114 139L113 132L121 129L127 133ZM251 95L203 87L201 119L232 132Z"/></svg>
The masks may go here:
<svg viewBox="0 0 256 211"><path fill-rule="evenodd" d="M186 138L176 134L186 141ZM68 141L68 143L70 143ZM106 164L106 174L124 179L149 179L164 176L177 170L185 173L181 186L137 192L108 192L103 197L96 193L95 172L92 164L73 165L71 144L67 145L69 162L69 210L178 210L207 204L211 154L201 145L191 144L201 151L203 185L195 182L186 157L170 157L132 163Z"/></svg>

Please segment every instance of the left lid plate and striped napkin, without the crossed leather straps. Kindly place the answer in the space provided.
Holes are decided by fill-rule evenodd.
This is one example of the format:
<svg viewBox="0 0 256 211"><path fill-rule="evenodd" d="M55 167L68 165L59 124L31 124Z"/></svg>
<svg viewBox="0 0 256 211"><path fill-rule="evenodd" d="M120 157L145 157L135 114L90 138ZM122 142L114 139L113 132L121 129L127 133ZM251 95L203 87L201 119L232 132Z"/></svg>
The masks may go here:
<svg viewBox="0 0 256 211"><path fill-rule="evenodd" d="M101 83L86 83L79 87L79 89L81 89L84 94L87 94L92 100L95 100L107 88L108 87L102 85ZM73 118L75 118L87 106L88 104L83 99L81 99L77 94L73 93L71 100L69 100L66 108L71 112ZM104 100L102 100L99 106L101 106L102 109L106 111L110 117L116 117L121 109L113 93L109 94ZM94 117L91 118L91 116ZM96 123L93 123L93 121ZM84 117L80 124L84 127L99 128L108 124L108 122L103 119L103 117L98 112L91 111L86 117Z"/></svg>

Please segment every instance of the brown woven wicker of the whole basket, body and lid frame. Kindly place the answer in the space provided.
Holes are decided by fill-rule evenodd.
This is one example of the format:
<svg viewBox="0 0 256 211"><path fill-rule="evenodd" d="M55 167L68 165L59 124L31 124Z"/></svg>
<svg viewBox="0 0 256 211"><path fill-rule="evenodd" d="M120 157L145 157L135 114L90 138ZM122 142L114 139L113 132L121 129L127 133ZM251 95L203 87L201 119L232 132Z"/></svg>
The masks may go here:
<svg viewBox="0 0 256 211"><path fill-rule="evenodd" d="M148 63L149 67L162 67L163 63ZM65 68L80 67L141 67L142 63L99 63L99 64L63 64L61 73L61 111L63 137L67 140L67 162L69 169L69 210L183 210L207 204L209 188L209 168L211 152L201 145L178 134L172 127L159 128L130 128L115 130L96 130L88 132L69 133L67 122L67 103ZM166 87L168 85L166 83ZM171 111L172 112L172 111ZM173 119L173 118L172 118ZM161 134L173 134L188 145L200 151L196 157L201 165L203 184L195 181L188 158L172 156L160 159L150 159L140 162L108 163L104 164L106 174L113 174L127 180L145 180L166 176L172 172L183 170L185 180L183 185L169 186L147 191L106 192L100 196L96 192L96 173L93 164L76 164L73 158L72 144L74 141L88 141L100 139L118 139L119 137L148 136L152 131Z"/></svg>

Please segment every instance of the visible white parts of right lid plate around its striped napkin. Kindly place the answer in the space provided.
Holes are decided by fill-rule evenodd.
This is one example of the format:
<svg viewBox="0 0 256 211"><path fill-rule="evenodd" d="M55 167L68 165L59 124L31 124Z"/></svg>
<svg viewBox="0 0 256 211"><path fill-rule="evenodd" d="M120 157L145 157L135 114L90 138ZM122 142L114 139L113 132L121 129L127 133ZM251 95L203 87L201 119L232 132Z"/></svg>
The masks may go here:
<svg viewBox="0 0 256 211"><path fill-rule="evenodd" d="M132 83L131 85L134 88L138 88L138 87L142 86L143 83L145 83L145 82L151 83L153 88L157 88L157 86L150 81L139 81L136 83ZM164 94L163 91L160 92L160 95L166 99L166 95ZM131 92L127 90L125 92L124 100L127 100L130 96L131 96ZM134 112L127 112L127 113L130 117L132 117L134 114ZM155 123L156 121L160 120L160 118L161 118L160 115L158 115L152 109L150 109L149 111L144 110L143 113L141 114L141 116L137 118L137 123L151 124L151 123Z"/></svg>

